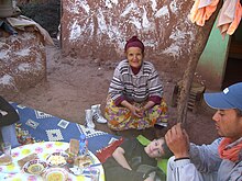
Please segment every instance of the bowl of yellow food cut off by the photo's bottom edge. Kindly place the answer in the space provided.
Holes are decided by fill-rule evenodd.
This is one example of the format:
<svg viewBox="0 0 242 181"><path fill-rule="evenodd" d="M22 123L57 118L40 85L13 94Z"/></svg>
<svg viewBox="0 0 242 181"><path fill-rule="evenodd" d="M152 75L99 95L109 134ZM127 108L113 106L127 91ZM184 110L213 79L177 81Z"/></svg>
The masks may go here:
<svg viewBox="0 0 242 181"><path fill-rule="evenodd" d="M50 168L44 173L45 181L66 181L68 172L63 168Z"/></svg>

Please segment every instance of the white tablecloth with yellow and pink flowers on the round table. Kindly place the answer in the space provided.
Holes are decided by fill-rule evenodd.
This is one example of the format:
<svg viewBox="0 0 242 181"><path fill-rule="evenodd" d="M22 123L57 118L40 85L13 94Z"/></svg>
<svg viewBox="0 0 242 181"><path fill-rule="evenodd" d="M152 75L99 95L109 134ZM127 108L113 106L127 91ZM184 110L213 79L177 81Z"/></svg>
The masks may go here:
<svg viewBox="0 0 242 181"><path fill-rule="evenodd" d="M22 180L44 180L41 176L31 176L24 173L22 169L18 165L18 160L26 157L31 154L37 154L41 160L46 160L47 156L52 152L57 151L65 151L69 148L69 143L63 142L43 142L43 143L35 143L30 145L23 145L12 149L12 158L13 162L9 166L0 166L0 180L14 180L14 181L22 181ZM98 158L90 152L90 156L94 159L95 168L99 169L100 176L99 181L105 181L105 170ZM68 173L68 181L90 181L91 179L85 176L74 176Z"/></svg>

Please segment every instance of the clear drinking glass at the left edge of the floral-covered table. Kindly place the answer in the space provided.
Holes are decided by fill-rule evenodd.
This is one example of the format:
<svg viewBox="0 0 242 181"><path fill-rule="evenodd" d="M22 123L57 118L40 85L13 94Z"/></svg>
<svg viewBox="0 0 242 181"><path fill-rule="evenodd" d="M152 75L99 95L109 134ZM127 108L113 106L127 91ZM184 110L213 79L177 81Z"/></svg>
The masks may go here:
<svg viewBox="0 0 242 181"><path fill-rule="evenodd" d="M12 156L11 156L11 144L10 143L2 143L1 144L2 155L0 156L0 165L10 165L12 163Z"/></svg>

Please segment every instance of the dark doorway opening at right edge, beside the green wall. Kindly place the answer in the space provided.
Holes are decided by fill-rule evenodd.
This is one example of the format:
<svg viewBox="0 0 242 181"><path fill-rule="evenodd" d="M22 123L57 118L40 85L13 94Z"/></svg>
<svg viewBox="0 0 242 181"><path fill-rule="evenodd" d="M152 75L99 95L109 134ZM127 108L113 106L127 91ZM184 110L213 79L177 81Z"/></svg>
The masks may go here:
<svg viewBox="0 0 242 181"><path fill-rule="evenodd" d="M235 82L242 82L242 23L231 37L222 89Z"/></svg>

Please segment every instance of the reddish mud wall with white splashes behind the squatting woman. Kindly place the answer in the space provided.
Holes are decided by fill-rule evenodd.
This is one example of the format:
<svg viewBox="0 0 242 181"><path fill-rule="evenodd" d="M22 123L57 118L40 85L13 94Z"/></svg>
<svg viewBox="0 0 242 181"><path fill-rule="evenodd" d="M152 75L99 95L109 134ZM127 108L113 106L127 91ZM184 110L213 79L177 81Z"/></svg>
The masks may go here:
<svg viewBox="0 0 242 181"><path fill-rule="evenodd" d="M183 73L196 43L197 26L188 20L193 3L63 0L63 53L118 61L125 41L138 35L145 44L146 59L164 71Z"/></svg>

